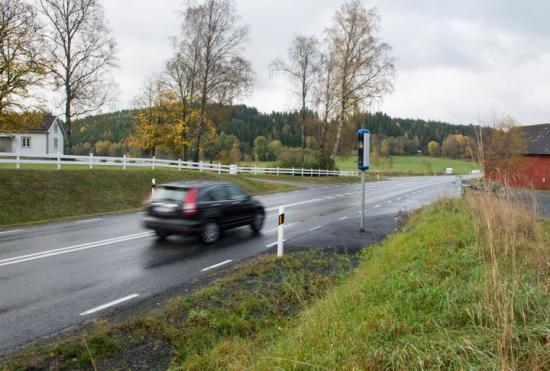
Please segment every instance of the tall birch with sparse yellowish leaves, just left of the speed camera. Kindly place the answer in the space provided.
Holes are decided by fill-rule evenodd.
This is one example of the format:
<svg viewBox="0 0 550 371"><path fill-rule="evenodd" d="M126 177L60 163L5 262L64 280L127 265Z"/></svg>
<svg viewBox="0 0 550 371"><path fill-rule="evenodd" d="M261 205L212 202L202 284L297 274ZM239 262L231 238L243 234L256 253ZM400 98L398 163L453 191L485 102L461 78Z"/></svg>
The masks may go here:
<svg viewBox="0 0 550 371"><path fill-rule="evenodd" d="M353 113L366 109L392 90L394 72L390 45L377 37L380 16L359 0L343 4L326 31L336 63L338 131L332 158L338 154L342 129Z"/></svg>

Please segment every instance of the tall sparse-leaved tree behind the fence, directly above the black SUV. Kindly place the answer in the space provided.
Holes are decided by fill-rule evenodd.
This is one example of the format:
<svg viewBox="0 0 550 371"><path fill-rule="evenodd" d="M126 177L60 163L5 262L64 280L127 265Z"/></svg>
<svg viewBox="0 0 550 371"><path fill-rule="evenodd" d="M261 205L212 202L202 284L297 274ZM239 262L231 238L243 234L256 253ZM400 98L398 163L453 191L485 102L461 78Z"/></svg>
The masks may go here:
<svg viewBox="0 0 550 371"><path fill-rule="evenodd" d="M200 159L202 137L208 132L208 105L216 99L220 104L231 101L251 84L250 64L242 55L248 27L241 26L239 20L230 0L205 0L185 11L182 34L196 39L198 46L200 119L195 130L195 162Z"/></svg>

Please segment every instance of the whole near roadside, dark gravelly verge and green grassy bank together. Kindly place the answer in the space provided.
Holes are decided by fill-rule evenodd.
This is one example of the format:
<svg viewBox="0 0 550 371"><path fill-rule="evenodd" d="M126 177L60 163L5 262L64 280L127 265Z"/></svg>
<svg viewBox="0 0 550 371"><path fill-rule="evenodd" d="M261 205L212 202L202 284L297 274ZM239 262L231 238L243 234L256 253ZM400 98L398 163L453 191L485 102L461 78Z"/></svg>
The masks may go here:
<svg viewBox="0 0 550 371"><path fill-rule="evenodd" d="M163 309L5 368L548 369L550 224L508 196L441 201L353 259L261 257Z"/></svg>

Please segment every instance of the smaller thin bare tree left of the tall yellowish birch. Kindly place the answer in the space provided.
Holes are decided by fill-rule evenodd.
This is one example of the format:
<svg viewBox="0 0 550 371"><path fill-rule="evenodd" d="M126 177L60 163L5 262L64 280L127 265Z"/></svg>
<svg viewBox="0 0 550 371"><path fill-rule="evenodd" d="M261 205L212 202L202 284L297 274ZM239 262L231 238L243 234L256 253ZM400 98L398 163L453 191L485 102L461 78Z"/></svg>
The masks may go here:
<svg viewBox="0 0 550 371"><path fill-rule="evenodd" d="M319 41L313 36L296 36L288 49L288 61L278 58L271 63L271 70L284 73L294 84L294 92L300 99L302 150L306 148L305 126L307 105L313 93L320 65Z"/></svg>

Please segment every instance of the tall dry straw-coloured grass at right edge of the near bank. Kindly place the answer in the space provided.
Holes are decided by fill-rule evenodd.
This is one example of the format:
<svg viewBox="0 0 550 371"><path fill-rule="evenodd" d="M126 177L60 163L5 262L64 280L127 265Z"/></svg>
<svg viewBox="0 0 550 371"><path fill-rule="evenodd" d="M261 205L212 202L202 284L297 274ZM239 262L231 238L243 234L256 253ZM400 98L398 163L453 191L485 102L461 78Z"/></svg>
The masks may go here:
<svg viewBox="0 0 550 371"><path fill-rule="evenodd" d="M507 188L468 194L466 201L475 216L480 258L490 266L480 318L481 325L498 332L495 350L500 367L512 370L527 363L533 369L544 368L548 360L537 354L529 360L518 359L520 354L524 357L526 341L520 329L527 325L533 309L525 290L525 272L532 273L538 292L550 290L550 249L545 245L537 202L527 193Z"/></svg>

